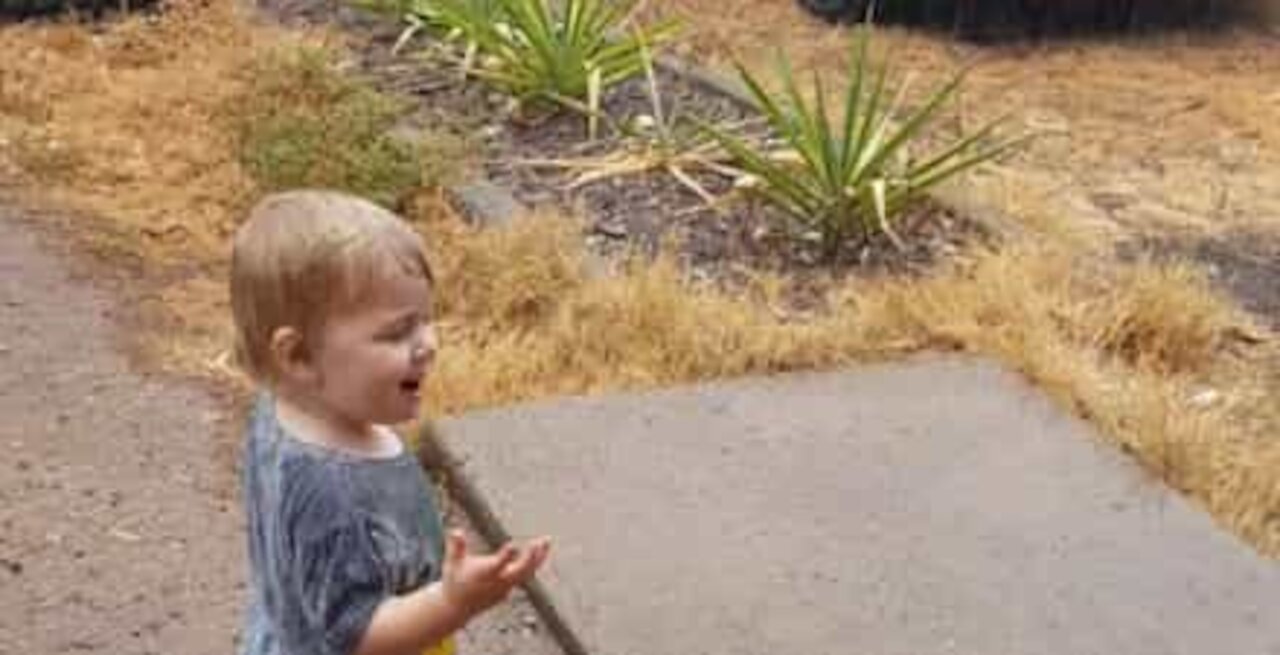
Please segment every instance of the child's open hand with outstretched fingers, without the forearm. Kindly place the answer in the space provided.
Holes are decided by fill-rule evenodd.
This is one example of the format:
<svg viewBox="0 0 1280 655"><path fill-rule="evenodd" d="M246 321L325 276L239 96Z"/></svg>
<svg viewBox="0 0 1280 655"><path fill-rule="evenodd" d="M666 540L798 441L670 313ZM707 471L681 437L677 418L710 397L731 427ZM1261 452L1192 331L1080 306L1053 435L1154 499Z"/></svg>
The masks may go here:
<svg viewBox="0 0 1280 655"><path fill-rule="evenodd" d="M506 544L492 555L467 553L467 539L451 531L444 546L442 585L444 596L468 615L497 605L513 587L534 577L547 562L550 540L534 540L524 548Z"/></svg>

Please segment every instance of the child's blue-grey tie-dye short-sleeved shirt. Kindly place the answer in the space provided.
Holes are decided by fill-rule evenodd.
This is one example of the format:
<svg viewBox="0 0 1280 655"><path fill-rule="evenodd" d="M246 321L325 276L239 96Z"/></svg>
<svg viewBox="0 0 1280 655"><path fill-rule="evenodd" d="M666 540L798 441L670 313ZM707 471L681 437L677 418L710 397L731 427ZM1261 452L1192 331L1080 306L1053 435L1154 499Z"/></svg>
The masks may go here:
<svg viewBox="0 0 1280 655"><path fill-rule="evenodd" d="M435 581L443 530L402 452L371 459L289 436L259 398L244 443L250 606L241 655L348 655L378 604Z"/></svg>

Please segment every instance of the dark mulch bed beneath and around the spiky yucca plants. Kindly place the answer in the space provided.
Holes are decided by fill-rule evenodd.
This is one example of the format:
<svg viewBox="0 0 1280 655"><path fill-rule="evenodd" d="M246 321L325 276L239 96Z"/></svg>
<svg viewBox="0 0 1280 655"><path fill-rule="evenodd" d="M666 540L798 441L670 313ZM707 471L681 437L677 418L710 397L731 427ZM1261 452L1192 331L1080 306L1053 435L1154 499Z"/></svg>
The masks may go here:
<svg viewBox="0 0 1280 655"><path fill-rule="evenodd" d="M918 272L986 237L975 221L922 202L897 224L904 251L878 237L846 244L831 261L820 257L815 244L783 234L785 216L776 209L732 198L716 211L666 173L628 174L571 189L576 173L520 162L611 154L622 145L616 134L602 133L588 142L585 119L571 113L513 116L504 97L484 84L463 83L449 67L413 61L403 52L393 56L394 24L362 32L367 40L358 47L361 68L378 87L416 99L417 123L458 132L481 145L484 175L525 205L582 214L590 225L586 238L600 252L653 251L673 237L686 262L712 275L739 266L787 272ZM754 115L739 101L682 75L660 70L658 82L668 115L730 123ZM616 87L605 97L605 109L616 118L652 114L648 83L635 79ZM687 173L716 196L732 191L731 180L721 175Z"/></svg>

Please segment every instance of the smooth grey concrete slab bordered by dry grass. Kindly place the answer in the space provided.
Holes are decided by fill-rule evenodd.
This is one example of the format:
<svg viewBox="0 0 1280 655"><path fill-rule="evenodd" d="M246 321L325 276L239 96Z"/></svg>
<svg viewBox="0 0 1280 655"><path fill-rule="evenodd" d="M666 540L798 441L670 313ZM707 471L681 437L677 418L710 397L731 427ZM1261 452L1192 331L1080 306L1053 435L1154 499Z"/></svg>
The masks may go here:
<svg viewBox="0 0 1280 655"><path fill-rule="evenodd" d="M1280 655L1280 567L987 363L442 431L593 655Z"/></svg>

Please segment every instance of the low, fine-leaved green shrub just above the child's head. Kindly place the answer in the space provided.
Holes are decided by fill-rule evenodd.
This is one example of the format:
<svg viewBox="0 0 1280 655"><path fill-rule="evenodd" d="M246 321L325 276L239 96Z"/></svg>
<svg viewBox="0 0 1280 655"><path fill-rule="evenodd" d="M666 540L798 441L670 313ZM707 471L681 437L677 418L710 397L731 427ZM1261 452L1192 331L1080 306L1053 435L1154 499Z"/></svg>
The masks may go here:
<svg viewBox="0 0 1280 655"><path fill-rule="evenodd" d="M342 189L394 206L422 178L420 147L390 134L403 106L301 49L251 72L241 161L264 191Z"/></svg>

